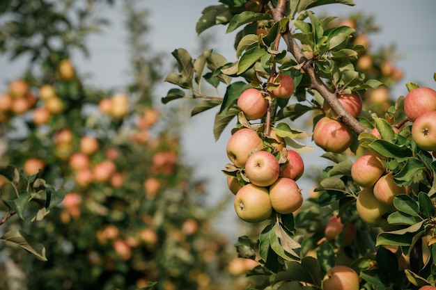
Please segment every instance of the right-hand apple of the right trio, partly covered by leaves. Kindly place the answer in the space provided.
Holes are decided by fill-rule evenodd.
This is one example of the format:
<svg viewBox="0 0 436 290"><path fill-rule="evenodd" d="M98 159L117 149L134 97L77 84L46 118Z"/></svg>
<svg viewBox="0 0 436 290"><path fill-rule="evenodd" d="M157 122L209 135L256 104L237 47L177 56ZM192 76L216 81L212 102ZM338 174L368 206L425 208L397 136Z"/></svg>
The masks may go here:
<svg viewBox="0 0 436 290"><path fill-rule="evenodd" d="M374 196L382 204L392 205L394 203L395 195L407 194L409 192L408 186L398 186L394 181L394 175L389 172L383 175L374 184Z"/></svg>

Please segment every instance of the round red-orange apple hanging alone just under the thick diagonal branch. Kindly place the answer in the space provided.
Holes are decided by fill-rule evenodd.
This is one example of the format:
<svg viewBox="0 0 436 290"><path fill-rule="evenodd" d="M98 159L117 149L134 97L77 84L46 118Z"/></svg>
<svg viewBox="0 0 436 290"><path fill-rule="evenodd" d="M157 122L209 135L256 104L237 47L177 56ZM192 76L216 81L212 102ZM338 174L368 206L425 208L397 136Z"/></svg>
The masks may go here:
<svg viewBox="0 0 436 290"><path fill-rule="evenodd" d="M325 151L341 153L350 147L352 132L342 122L322 117L313 128L313 141Z"/></svg>

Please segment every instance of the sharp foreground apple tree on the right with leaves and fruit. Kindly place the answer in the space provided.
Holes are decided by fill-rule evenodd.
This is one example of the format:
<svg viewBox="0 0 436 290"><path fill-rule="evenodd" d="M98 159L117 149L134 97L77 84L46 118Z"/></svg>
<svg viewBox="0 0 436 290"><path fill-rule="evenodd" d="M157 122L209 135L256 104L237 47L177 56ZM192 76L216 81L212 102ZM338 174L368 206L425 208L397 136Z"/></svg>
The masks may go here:
<svg viewBox="0 0 436 290"><path fill-rule="evenodd" d="M355 5L220 0L204 8L196 32L226 26L236 59L174 50L178 72L166 76L174 88L162 102L194 99L192 115L218 108L216 139L233 126L222 173L235 214L260 227L235 243L259 264L247 289L435 289L435 90L410 82L391 99L402 74L389 54L371 51L375 26L362 15L313 13L338 3ZM302 202L298 179L312 149L304 140L329 166Z"/></svg>

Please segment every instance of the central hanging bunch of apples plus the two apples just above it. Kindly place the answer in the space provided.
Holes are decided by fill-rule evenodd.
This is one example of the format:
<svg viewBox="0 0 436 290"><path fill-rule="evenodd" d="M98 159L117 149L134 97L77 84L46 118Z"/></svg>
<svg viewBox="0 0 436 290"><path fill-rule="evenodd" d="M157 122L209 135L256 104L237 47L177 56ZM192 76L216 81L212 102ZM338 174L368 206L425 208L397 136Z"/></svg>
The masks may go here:
<svg viewBox="0 0 436 290"><path fill-rule="evenodd" d="M278 85L274 85L279 81ZM267 97L288 98L293 95L294 81L279 74L267 92L249 88L238 98L238 107L247 120L263 118L269 104ZM263 127L241 127L228 140L227 184L235 194L238 216L248 223L260 223L274 212L292 214L302 206L303 197L296 181L304 172L302 157L286 148L285 140L274 128L266 134Z"/></svg>

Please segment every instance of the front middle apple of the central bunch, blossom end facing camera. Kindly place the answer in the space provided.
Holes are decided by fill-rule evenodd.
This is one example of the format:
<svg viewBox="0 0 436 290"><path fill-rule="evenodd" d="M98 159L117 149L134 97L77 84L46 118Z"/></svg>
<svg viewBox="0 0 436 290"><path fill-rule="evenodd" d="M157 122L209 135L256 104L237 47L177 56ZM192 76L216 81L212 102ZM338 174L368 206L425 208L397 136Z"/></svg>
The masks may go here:
<svg viewBox="0 0 436 290"><path fill-rule="evenodd" d="M245 163L245 175L257 186L270 186L279 178L279 174L279 161L267 151L254 152Z"/></svg>

